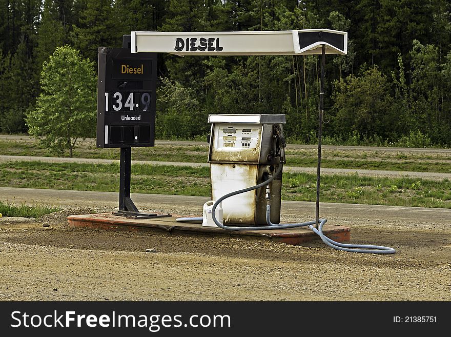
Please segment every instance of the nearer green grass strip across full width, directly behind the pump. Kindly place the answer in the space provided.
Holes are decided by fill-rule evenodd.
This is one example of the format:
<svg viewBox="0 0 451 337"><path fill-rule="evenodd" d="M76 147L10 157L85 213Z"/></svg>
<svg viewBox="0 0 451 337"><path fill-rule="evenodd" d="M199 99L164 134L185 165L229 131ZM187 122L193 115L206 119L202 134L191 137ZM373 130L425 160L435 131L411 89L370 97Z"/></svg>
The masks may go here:
<svg viewBox="0 0 451 337"><path fill-rule="evenodd" d="M118 185L117 164L0 163L0 186L118 192ZM209 196L210 189L208 167L132 165L132 192ZM447 179L324 175L320 192L322 202L451 208ZM315 197L315 174L283 174L283 200Z"/></svg>

